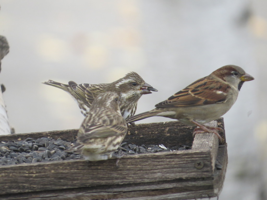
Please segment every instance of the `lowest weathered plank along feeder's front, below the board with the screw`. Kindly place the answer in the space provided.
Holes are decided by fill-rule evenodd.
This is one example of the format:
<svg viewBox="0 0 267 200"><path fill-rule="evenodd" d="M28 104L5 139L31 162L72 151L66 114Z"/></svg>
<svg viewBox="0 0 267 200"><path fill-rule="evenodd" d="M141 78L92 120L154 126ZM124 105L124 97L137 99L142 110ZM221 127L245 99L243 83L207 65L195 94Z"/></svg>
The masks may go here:
<svg viewBox="0 0 267 200"><path fill-rule="evenodd" d="M209 196L215 196L213 192L213 179L212 178L198 178L198 179L175 179L172 181L150 182L150 183L138 183L138 184L124 184L124 185L112 185L101 187L83 187L77 189L67 190L54 190L46 192L32 192L32 193L20 193L20 194L7 194L0 195L0 199L118 199L129 197L147 197L157 195L169 195L180 194L184 192L195 193L197 191L209 191ZM204 194L204 193L201 193ZM37 198L40 197L40 198ZM200 198L202 196L195 196Z"/></svg>

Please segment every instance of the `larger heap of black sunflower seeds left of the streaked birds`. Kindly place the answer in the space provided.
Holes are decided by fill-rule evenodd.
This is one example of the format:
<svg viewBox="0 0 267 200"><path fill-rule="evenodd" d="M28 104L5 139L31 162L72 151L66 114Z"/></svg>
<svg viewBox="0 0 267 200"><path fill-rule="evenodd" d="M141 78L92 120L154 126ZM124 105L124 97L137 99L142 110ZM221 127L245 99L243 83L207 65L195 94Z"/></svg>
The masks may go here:
<svg viewBox="0 0 267 200"><path fill-rule="evenodd" d="M62 139L27 138L23 141L0 142L0 165L46 162L82 158L80 154L66 152L72 143Z"/></svg>

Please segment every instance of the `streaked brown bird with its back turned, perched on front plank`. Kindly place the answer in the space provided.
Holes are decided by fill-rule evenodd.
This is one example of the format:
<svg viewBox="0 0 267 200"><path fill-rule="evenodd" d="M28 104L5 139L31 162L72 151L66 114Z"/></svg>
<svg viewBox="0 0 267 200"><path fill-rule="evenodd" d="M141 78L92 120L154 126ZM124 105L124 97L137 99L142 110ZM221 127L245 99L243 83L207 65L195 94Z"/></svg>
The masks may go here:
<svg viewBox="0 0 267 200"><path fill-rule="evenodd" d="M115 92L97 95L80 126L77 142L68 151L81 153L87 161L111 158L127 133L120 112L120 99Z"/></svg>

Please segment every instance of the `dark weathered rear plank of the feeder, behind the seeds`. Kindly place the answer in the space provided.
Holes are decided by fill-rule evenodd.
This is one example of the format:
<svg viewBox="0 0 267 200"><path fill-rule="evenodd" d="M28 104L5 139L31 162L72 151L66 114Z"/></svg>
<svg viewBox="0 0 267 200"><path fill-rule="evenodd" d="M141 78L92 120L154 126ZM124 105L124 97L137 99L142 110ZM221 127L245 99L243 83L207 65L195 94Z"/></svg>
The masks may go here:
<svg viewBox="0 0 267 200"><path fill-rule="evenodd" d="M223 118L217 119L218 127L224 126ZM178 121L158 122L150 124L129 125L128 134L123 142L133 143L135 145L158 145L164 143L165 146L192 145L193 128L184 125ZM36 133L21 133L13 135L0 135L0 141L24 140L26 138L38 139L41 137L61 138L71 142L76 139L77 129L45 131ZM222 137L225 137L222 135Z"/></svg>

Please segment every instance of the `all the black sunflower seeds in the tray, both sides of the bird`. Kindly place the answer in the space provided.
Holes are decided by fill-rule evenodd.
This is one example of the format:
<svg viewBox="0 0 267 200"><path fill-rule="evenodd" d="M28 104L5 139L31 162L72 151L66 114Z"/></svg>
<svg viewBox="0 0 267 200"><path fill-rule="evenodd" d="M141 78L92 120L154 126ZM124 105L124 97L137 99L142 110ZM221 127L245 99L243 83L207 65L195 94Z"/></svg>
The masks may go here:
<svg viewBox="0 0 267 200"><path fill-rule="evenodd" d="M66 150L72 142L52 138L27 138L23 141L0 142L0 165L14 165L20 163L48 162L59 160L80 159L83 156ZM176 146L166 148L164 145L132 145L126 142L113 153L118 157L122 154L154 153L160 151L174 151L190 149L190 146Z"/></svg>

